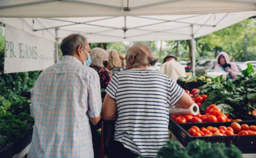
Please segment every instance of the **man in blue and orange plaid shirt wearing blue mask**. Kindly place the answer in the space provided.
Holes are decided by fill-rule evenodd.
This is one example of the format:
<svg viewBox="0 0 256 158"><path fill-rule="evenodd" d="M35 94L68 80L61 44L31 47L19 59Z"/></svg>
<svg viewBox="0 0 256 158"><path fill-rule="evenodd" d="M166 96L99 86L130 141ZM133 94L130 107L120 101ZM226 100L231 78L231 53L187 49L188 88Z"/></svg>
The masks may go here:
<svg viewBox="0 0 256 158"><path fill-rule="evenodd" d="M61 51L60 62L44 70L31 90L35 125L28 157L93 158L89 120L100 120L99 75L89 67L83 36L63 39Z"/></svg>

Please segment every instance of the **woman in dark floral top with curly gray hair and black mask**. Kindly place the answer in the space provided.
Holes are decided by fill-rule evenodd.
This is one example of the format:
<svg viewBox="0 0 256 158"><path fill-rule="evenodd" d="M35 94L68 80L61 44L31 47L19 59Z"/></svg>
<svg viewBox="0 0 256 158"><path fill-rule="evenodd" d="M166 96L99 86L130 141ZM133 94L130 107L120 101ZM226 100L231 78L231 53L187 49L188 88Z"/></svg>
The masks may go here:
<svg viewBox="0 0 256 158"><path fill-rule="evenodd" d="M107 61L109 54L102 48L93 48L90 52L91 65L98 72L100 84L101 84L101 100L103 102L106 92L105 89L112 79L111 72L104 67L104 62Z"/></svg>

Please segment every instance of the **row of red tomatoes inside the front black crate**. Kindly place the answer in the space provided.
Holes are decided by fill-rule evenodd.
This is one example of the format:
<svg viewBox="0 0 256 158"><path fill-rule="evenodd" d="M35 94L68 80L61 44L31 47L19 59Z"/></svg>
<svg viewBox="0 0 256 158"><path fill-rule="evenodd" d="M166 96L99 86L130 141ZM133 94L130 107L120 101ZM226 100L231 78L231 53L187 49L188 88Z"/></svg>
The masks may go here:
<svg viewBox="0 0 256 158"><path fill-rule="evenodd" d="M237 122L230 124L230 127L219 126L217 127L202 127L192 126L188 130L189 134L194 137L201 136L233 136L233 135L256 135L256 125L240 125Z"/></svg>

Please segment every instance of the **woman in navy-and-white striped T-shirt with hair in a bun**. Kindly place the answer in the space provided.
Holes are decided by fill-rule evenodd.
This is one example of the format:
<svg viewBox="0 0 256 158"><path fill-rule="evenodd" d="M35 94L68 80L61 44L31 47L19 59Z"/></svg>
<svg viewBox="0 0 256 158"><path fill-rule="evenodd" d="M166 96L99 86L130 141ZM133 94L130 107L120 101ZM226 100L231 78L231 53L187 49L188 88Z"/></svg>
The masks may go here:
<svg viewBox="0 0 256 158"><path fill-rule="evenodd" d="M126 70L113 76L102 107L103 120L115 120L107 156L157 157L169 140L169 107L189 108L193 100L169 76L146 69L156 60L145 44L133 45L125 58Z"/></svg>

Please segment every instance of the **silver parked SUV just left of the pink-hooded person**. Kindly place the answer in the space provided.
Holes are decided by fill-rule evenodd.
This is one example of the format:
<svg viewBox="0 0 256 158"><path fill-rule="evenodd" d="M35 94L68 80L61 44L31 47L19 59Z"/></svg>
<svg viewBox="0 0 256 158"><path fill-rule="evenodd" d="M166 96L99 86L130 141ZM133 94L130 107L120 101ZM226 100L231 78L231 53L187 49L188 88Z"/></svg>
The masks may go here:
<svg viewBox="0 0 256 158"><path fill-rule="evenodd" d="M218 63L217 59L199 60L195 66L195 72L205 73L208 68L215 66Z"/></svg>

